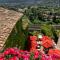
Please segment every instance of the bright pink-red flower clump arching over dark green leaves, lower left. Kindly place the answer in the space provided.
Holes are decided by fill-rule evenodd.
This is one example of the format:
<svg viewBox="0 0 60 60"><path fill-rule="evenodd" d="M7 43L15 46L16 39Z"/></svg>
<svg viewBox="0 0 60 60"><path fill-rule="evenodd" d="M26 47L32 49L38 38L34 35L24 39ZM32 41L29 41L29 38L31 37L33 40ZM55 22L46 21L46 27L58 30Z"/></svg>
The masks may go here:
<svg viewBox="0 0 60 60"><path fill-rule="evenodd" d="M14 55L14 56L17 56L18 58L21 58L21 53L19 52L18 49L14 49L14 48L9 48L9 49L6 49L4 51L4 55L7 56L7 55ZM11 58L13 59L13 58Z"/></svg>

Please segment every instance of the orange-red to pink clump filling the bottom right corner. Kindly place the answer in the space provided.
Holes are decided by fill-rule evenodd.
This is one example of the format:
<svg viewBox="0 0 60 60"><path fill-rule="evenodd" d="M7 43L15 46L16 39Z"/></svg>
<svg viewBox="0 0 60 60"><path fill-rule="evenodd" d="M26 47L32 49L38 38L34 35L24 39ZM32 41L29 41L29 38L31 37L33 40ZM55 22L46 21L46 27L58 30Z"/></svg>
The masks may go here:
<svg viewBox="0 0 60 60"><path fill-rule="evenodd" d="M50 49L48 55L52 56L52 60L60 60L60 50Z"/></svg>

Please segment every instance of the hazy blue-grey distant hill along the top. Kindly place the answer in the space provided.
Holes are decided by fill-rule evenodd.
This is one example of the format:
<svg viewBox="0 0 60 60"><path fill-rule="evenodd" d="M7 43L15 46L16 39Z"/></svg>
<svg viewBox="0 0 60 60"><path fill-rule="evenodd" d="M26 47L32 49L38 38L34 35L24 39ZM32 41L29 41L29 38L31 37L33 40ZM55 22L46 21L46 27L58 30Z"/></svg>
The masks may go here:
<svg viewBox="0 0 60 60"><path fill-rule="evenodd" d="M60 6L60 1L59 0L0 0L0 4L8 4L8 5L40 4L44 6Z"/></svg>

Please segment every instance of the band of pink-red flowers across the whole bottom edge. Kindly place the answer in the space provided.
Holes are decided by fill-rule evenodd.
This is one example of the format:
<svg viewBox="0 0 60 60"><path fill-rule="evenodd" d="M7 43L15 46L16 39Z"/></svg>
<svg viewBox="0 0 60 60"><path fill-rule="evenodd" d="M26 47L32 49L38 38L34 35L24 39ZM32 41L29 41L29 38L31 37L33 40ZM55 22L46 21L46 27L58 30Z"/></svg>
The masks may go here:
<svg viewBox="0 0 60 60"><path fill-rule="evenodd" d="M47 55L43 51L28 52L17 48L7 48L3 53L0 53L0 60L60 60L60 55Z"/></svg>

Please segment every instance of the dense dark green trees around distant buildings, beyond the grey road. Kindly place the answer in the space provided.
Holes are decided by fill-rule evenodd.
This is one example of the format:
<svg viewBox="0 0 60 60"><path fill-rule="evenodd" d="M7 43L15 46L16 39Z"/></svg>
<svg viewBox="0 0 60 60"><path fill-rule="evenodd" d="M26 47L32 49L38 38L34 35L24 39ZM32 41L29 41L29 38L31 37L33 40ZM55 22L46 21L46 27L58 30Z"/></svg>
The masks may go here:
<svg viewBox="0 0 60 60"><path fill-rule="evenodd" d="M32 23L48 21L49 24L60 24L60 18L56 18L56 16L59 16L58 11L59 9L56 10L55 8L29 7L25 10L24 14Z"/></svg>

